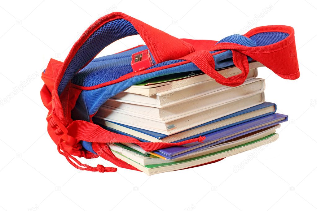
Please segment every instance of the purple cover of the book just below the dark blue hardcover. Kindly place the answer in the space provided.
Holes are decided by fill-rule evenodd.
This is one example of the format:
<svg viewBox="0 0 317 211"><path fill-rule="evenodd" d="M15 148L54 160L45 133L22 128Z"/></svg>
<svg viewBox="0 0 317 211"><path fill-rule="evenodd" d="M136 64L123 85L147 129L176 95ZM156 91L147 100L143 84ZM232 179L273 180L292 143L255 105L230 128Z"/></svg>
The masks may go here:
<svg viewBox="0 0 317 211"><path fill-rule="evenodd" d="M278 119L283 119L283 120L270 124L270 122L276 121ZM287 115L271 114L271 115L264 116L264 117L261 117L261 118L258 118L258 119L252 120L252 121L238 124L236 126L228 127L228 128L225 128L225 129L213 132L213 133L206 134L205 135L206 139L204 140L204 143L196 144L194 146L192 146L192 145L172 146L172 147L168 147L165 149L160 149L158 151L155 151L155 153L162 155L163 157L165 157L167 159L177 158L177 157L183 156L185 154L196 152L196 151L204 149L206 147L210 147L210 146L222 143L224 141L228 141L228 140L234 139L236 137L261 130L263 128L267 128L267 127L270 127L273 125L280 124L281 122L287 121L287 119L288 119ZM264 125L264 126L261 126L261 125ZM257 128L251 129L254 127L257 127ZM244 130L248 130L248 131L242 132ZM236 134L236 133L238 133L238 134ZM230 134L232 134L231 137L226 138L226 139L222 139L223 137L228 136ZM234 135L234 134L236 134L236 135ZM222 139L222 140L219 140L217 142L213 142L217 139ZM208 143L210 143L210 144L208 144ZM200 146L200 145L203 145L203 146ZM184 152L185 150L190 150L190 151ZM184 152L184 153L182 153L182 152ZM175 155L175 154L178 154L178 155ZM175 155L175 156L173 156L173 155Z"/></svg>

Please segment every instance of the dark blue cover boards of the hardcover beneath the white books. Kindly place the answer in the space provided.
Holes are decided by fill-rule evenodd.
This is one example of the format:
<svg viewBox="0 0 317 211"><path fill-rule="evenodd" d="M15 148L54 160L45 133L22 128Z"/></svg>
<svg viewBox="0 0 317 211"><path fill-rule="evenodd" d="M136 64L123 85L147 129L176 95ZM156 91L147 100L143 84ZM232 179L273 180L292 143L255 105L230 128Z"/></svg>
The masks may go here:
<svg viewBox="0 0 317 211"><path fill-rule="evenodd" d="M218 121L222 121L222 120L225 120L225 119L229 119L231 117L235 117L235 116L238 116L238 115L242 115L242 114L246 114L246 113L249 113L249 112L252 112L252 111L256 111L256 110L259 110L259 109L264 109L264 108L267 108L267 107L270 107L270 106L274 106L274 112L269 112L269 113L266 113L266 114L263 114L263 115L260 115L260 116L255 116L253 118L249 118L249 119L246 119L246 120L243 120L243 121L239 121L239 122L235 122L233 124L230 124L230 125L226 125L226 126L223 126L223 127L219 127L217 129L213 129L213 130L209 130L209 131L205 131L203 133L199 133L199 134L196 134L196 135L193 135L193 136L190 136L190 137L185 137L183 139L180 139L180 140L177 140L177 141L173 141L173 143L175 142L180 142L180 141L184 141L184 140L188 140L188 139L192 139L192 138L196 138L196 137L199 137L199 136L202 136L202 135L205 135L205 134L208 134L208 133L211 133L211 132L215 132L217 130L221 130L221 129L224 129L224 128L228 128L228 127L231 127L231 126L234 126L234 125L237 125L237 124L241 124L243 122L247 122L247 121L251 121L251 120L254 120L254 119L257 119L257 118L260 118L262 116L266 116L266 115L270 115L270 114L274 114L275 111L276 111L276 104L275 103L272 103L272 102L264 102L260 105L256 105L256 106L253 106L251 108L248 108L248 109L244 109L244 110L241 110L241 111L238 111L236 113L233 113L233 114L230 114L230 115L226 115L224 117L221 117L221 118L218 118L216 120L213 120L213 121L209 121L209 122L206 122L204 124L201 124L201 125L198 125L196 127L192 127L190 129L187 129L185 131L188 131L188 130L192 130L192 129L195 129L195 128L198 128L198 127L202 127L202 126L205 126L205 125L209 125L209 124L212 124L212 123L215 123L215 122L218 122ZM161 134L161 133L156 133L156 132L152 132L152 131L149 131L149 130L144 130L144 129L140 129L138 127L132 127L132 126L128 126L128 125L124 125L124 124L120 124L120 123L116 123L116 122L112 122L114 124L117 124L117 125L120 125L120 126L123 126L123 127L126 127L126 128L129 128L129 129L132 129L132 130L135 130L137 132L140 132L140 133L144 133L146 135L149 135L149 136L152 136L158 140L164 140L164 138L168 137L168 135L165 135L165 134ZM119 130L116 130L114 128L110 128L110 127L105 127L107 130L110 130L112 132L115 132L115 133L120 133L120 134L123 134L123 135L127 135L127 136L131 136L131 137L134 137L140 141L143 141L143 142L149 142L148 140L144 140L144 139L140 139L139 137L135 137L131 134L128 134L128 133L124 133L124 132L121 132ZM182 132L179 132L179 133L183 133L184 131ZM179 134L179 133L176 133L176 134ZM175 134L173 134L175 135ZM172 135L170 135L172 136Z"/></svg>

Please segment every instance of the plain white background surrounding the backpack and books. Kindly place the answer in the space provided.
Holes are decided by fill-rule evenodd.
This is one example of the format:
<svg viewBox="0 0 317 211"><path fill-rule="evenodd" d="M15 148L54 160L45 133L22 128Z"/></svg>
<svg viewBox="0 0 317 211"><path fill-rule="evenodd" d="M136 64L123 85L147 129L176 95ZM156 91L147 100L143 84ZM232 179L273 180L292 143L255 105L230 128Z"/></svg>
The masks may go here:
<svg viewBox="0 0 317 211"><path fill-rule="evenodd" d="M301 77L284 80L259 68L267 101L289 115L280 139L215 164L151 177L126 169L77 171L46 132L40 74L50 58L63 61L83 31L112 11L190 39L220 40L263 25L294 27ZM316 14L313 0L2 1L0 99L10 102L0 107L0 210L317 209ZM101 55L140 43L139 36L123 39ZM81 161L114 166L100 158Z"/></svg>

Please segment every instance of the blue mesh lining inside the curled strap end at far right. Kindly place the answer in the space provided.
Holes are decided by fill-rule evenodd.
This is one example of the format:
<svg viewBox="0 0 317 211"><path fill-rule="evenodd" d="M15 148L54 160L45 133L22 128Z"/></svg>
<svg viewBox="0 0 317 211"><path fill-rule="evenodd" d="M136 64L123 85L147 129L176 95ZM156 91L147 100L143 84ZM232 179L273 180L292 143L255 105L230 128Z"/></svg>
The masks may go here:
<svg viewBox="0 0 317 211"><path fill-rule="evenodd" d="M256 46L266 46L284 40L288 35L283 32L262 32L251 36L250 39L256 42Z"/></svg>

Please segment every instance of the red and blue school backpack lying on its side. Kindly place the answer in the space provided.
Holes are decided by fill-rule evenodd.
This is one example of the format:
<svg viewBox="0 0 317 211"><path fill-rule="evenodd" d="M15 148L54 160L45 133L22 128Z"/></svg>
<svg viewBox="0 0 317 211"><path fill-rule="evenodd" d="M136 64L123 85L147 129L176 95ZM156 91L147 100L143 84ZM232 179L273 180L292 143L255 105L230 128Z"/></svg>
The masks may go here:
<svg viewBox="0 0 317 211"><path fill-rule="evenodd" d="M146 45L94 59L114 41L136 34ZM136 67L131 65L131 58L139 52L148 52L148 64ZM107 143L134 143L146 151L154 151L201 142L204 137L178 143L147 143L107 131L92 121L107 99L153 77L196 70L203 71L219 84L239 86L248 76L249 62L254 60L281 78L297 79L300 73L294 29L281 25L257 27L244 35L234 34L218 42L178 39L126 14L111 13L98 19L82 34L64 62L50 59L43 71L45 84L41 97L49 110L46 118L49 135L59 153L77 169L117 171L113 167L82 164L73 155L100 156L119 167L138 170L115 157ZM242 72L224 78L216 71L232 65Z"/></svg>

